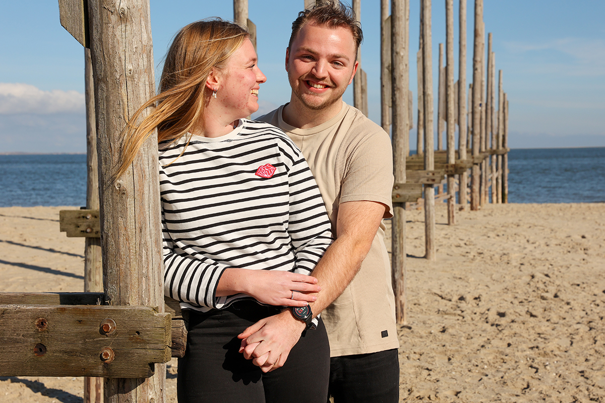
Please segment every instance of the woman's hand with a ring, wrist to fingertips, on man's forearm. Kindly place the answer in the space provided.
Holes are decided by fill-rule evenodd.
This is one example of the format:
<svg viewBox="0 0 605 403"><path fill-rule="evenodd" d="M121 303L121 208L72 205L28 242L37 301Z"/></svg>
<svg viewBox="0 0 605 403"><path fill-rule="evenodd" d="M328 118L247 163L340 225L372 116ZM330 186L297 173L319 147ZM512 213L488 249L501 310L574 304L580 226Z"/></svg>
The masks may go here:
<svg viewBox="0 0 605 403"><path fill-rule="evenodd" d="M245 294L259 302L277 306L306 306L317 299L311 292L319 292L317 279L289 271L247 270Z"/></svg>

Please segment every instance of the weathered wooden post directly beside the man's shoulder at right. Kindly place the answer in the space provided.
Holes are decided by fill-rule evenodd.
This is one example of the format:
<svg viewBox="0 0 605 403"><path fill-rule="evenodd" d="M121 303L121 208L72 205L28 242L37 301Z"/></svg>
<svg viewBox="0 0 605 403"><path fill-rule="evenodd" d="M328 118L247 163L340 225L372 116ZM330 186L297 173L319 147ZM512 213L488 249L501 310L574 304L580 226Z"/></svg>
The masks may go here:
<svg viewBox="0 0 605 403"><path fill-rule="evenodd" d="M405 148L405 137L410 133L408 111L408 48L406 42L407 26L405 24L408 0L391 1L391 57L393 66L393 175L396 184L404 184L405 160L408 150ZM395 314L397 323L407 321L405 309L405 203L393 203L393 225L391 226L391 256L393 257L393 291L395 294Z"/></svg>

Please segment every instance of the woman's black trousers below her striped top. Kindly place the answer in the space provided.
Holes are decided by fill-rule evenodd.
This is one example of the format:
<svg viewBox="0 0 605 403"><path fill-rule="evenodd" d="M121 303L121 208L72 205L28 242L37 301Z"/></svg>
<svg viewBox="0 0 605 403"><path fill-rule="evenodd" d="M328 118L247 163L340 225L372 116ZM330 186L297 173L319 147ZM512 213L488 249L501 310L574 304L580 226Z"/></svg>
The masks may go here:
<svg viewBox="0 0 605 403"><path fill-rule="evenodd" d="M237 335L280 308L237 301L203 314L191 311L187 349L178 359L179 403L325 403L330 347L321 320L290 351L286 364L263 373L238 352Z"/></svg>

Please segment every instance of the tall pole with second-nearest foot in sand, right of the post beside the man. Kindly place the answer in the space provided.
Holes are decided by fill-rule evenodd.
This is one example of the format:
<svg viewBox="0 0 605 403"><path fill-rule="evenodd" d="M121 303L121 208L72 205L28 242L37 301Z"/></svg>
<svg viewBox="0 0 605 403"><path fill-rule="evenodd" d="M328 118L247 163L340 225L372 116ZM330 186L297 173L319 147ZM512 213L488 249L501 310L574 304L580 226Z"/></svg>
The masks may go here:
<svg viewBox="0 0 605 403"><path fill-rule="evenodd" d="M431 42L431 0L422 0L422 77L424 89L424 169L435 169L433 128L433 44ZM425 257L436 260L435 246L435 188L424 185Z"/></svg>

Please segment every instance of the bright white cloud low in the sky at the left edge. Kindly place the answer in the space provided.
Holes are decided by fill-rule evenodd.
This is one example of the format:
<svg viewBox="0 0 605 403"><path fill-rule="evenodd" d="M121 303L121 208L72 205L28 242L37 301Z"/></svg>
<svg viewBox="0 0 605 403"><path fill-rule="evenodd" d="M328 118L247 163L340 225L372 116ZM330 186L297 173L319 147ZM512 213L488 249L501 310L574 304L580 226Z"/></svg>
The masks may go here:
<svg viewBox="0 0 605 403"><path fill-rule="evenodd" d="M84 94L42 91L24 83L0 83L0 115L84 112Z"/></svg>

